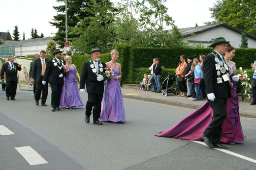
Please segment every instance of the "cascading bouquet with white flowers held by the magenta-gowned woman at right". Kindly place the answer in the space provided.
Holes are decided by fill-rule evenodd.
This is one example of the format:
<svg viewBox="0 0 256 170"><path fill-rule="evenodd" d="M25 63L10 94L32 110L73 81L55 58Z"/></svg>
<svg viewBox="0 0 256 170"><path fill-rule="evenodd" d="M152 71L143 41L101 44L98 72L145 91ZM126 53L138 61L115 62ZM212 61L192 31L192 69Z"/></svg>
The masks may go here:
<svg viewBox="0 0 256 170"><path fill-rule="evenodd" d="M239 69L241 70L241 74L237 74L239 76L239 80L241 82L241 96L242 96L242 101L245 98L245 95L248 95L248 98L250 99L250 89L252 88L251 84L248 83L248 80L250 80L250 78L248 78L248 74L246 73L246 71L242 71L242 67L239 67Z"/></svg>

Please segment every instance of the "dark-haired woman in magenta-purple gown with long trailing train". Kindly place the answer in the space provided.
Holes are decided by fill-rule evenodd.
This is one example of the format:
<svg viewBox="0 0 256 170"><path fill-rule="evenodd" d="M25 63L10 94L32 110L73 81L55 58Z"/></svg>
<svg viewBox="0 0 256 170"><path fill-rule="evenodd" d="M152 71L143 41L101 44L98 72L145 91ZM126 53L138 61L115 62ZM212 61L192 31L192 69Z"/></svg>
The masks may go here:
<svg viewBox="0 0 256 170"><path fill-rule="evenodd" d="M225 52L224 58L229 66L230 75L235 75L235 63L231 61L235 55L235 49L229 46ZM222 125L221 142L227 144L234 144L235 142L244 141L244 135L239 116L238 97L234 82L231 82L231 98L227 99L226 105L226 119ZM187 139L201 141L201 134L206 127L210 124L213 117L213 110L211 109L208 101L192 114L172 126L170 129L161 131L156 136Z"/></svg>

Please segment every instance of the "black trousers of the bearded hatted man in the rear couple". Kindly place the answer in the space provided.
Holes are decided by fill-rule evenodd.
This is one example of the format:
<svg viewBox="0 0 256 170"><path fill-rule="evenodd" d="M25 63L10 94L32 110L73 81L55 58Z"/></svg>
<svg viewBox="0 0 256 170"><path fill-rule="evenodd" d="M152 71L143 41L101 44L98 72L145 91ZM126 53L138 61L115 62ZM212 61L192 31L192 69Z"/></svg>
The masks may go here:
<svg viewBox="0 0 256 170"><path fill-rule="evenodd" d="M52 107L60 107L61 95L62 95L62 86L60 84L51 84L52 88Z"/></svg>

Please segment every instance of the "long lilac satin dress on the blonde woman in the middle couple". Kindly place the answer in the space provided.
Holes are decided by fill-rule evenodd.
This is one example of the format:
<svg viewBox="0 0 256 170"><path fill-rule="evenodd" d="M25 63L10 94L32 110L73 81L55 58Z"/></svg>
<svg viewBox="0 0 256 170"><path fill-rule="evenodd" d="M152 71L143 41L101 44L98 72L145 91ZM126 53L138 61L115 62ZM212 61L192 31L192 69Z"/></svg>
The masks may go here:
<svg viewBox="0 0 256 170"><path fill-rule="evenodd" d="M119 75L119 70L113 68L114 75L116 77ZM106 86L101 101L101 113L99 119L102 121L126 121L124 101L121 93L120 81L106 80Z"/></svg>

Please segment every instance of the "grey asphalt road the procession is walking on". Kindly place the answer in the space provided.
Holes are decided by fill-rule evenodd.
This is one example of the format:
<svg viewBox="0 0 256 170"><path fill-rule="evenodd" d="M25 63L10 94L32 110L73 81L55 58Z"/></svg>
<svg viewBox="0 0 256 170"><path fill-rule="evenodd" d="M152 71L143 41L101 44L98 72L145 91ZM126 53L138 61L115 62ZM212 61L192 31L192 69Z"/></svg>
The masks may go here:
<svg viewBox="0 0 256 170"><path fill-rule="evenodd" d="M95 125L84 121L84 107L51 112L36 106L31 91L7 101L0 91L0 170L256 170L256 163L188 140L161 138L192 109L124 99L126 122ZM81 94L84 103L87 94ZM40 103L40 101L39 101ZM256 119L241 118L245 142L228 151L256 160ZM31 146L48 163L29 165L15 147Z"/></svg>

